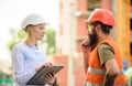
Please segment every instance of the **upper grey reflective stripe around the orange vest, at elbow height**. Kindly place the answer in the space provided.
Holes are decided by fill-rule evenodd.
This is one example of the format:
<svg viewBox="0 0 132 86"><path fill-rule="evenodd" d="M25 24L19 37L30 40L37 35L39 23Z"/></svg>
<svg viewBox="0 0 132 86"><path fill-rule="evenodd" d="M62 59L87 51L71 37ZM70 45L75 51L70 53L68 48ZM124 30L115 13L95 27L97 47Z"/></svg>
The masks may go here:
<svg viewBox="0 0 132 86"><path fill-rule="evenodd" d="M100 69L100 68L92 68L92 67L88 67L88 72L89 73L94 73L94 74L100 74L100 75L105 75L106 71L105 69ZM119 75L123 75L123 71L119 72Z"/></svg>

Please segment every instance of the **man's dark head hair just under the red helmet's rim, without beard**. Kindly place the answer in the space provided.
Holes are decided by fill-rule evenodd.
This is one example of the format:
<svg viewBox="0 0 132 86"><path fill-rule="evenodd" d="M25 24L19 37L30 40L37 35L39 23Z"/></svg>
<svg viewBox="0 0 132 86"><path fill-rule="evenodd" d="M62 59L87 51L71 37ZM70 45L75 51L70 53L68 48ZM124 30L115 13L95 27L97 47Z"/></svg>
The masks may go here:
<svg viewBox="0 0 132 86"><path fill-rule="evenodd" d="M110 30L112 29L111 25L107 25L107 24L103 24L102 22L100 21L96 21L96 22L92 22L92 24L96 26L98 24L100 24L101 26L101 30L105 34L110 34Z"/></svg>

